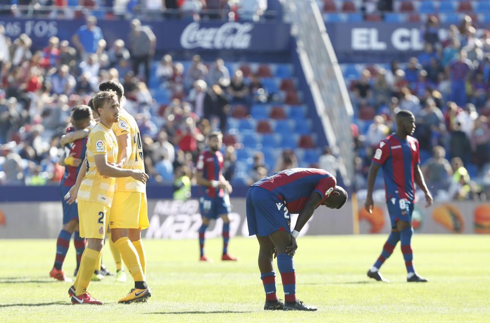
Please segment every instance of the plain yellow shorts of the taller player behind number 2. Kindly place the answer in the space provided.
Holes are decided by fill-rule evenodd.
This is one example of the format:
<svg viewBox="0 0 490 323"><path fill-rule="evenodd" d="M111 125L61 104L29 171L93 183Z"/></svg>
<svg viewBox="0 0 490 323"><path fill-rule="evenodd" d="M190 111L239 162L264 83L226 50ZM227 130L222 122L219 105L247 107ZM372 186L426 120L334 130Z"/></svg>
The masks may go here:
<svg viewBox="0 0 490 323"><path fill-rule="evenodd" d="M112 199L111 229L146 229L148 222L147 195L140 192L114 192Z"/></svg>

